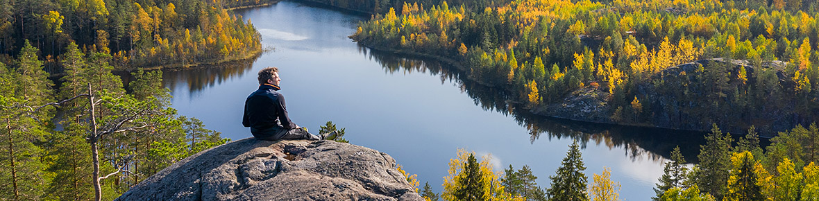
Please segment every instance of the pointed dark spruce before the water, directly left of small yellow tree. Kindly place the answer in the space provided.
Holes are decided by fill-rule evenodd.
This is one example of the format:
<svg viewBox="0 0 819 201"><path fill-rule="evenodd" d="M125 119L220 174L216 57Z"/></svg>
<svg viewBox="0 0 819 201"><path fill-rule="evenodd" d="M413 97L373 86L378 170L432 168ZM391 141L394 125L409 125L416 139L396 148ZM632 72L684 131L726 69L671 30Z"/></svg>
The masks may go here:
<svg viewBox="0 0 819 201"><path fill-rule="evenodd" d="M583 166L577 141L569 145L562 164L558 167L556 176L549 176L552 183L551 188L546 190L548 198L550 200L587 200L586 181L588 177L583 173L586 167Z"/></svg>

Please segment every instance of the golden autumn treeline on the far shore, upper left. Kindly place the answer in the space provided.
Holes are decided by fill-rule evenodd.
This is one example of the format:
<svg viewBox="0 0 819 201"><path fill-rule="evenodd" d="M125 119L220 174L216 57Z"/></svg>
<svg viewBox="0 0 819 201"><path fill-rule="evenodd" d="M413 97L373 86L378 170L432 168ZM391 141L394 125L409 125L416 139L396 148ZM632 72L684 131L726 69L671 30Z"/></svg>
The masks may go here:
<svg viewBox="0 0 819 201"><path fill-rule="evenodd" d="M224 7L273 2L203 0L0 0L0 62L10 63L24 40L40 49L48 73L62 73L70 42L110 54L117 68L195 65L260 51L251 23Z"/></svg>

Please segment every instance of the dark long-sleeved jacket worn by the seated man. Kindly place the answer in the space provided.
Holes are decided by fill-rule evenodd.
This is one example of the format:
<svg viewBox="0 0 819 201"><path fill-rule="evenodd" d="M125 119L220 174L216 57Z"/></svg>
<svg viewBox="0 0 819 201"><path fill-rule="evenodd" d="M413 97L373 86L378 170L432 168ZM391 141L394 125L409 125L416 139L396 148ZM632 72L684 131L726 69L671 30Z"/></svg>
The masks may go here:
<svg viewBox="0 0 819 201"><path fill-rule="evenodd" d="M278 86L265 83L259 86L259 90L251 93L251 96L247 96L242 125L254 128L251 132L278 127L279 123L286 129L296 128L296 123L292 123L287 117L284 96L276 92L279 89L281 88Z"/></svg>

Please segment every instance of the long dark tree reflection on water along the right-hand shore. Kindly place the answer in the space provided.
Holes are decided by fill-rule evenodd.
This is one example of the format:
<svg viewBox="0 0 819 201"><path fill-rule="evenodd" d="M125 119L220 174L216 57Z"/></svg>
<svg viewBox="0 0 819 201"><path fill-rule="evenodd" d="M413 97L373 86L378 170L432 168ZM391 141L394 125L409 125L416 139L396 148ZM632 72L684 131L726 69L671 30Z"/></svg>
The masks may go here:
<svg viewBox="0 0 819 201"><path fill-rule="evenodd" d="M628 127L605 123L587 123L563 118L550 118L532 114L523 105L510 101L510 95L496 87L465 79L464 72L435 60L405 56L387 51L359 47L362 55L382 65L389 74L432 74L441 78L441 84L454 83L461 92L473 99L475 105L486 111L495 111L514 118L515 122L529 131L530 141L551 141L569 138L587 145L604 145L609 149L626 150L628 157L662 161L669 159L670 153L680 146L689 163L697 163L699 145L704 145L704 132L678 131L652 127Z"/></svg>

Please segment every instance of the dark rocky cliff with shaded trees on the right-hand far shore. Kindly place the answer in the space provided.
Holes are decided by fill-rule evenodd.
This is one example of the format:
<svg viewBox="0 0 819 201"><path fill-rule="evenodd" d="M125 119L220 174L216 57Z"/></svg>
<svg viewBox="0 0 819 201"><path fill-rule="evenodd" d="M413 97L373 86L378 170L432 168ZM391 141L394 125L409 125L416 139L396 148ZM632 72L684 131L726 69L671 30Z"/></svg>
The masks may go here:
<svg viewBox="0 0 819 201"><path fill-rule="evenodd" d="M532 112L585 122L701 132L709 132L716 123L722 132L734 134L745 133L753 125L762 136L814 122L815 115L799 112L793 95L785 96L793 93L795 85L783 74L786 63L766 61L760 65L762 69L749 65L748 60L715 58L663 69L635 83L631 94L640 100L641 111L620 105L622 114L618 115L618 105L607 89L583 87L559 103L541 105ZM744 69L744 80L738 76L740 69ZM631 95L624 98L632 100Z"/></svg>

